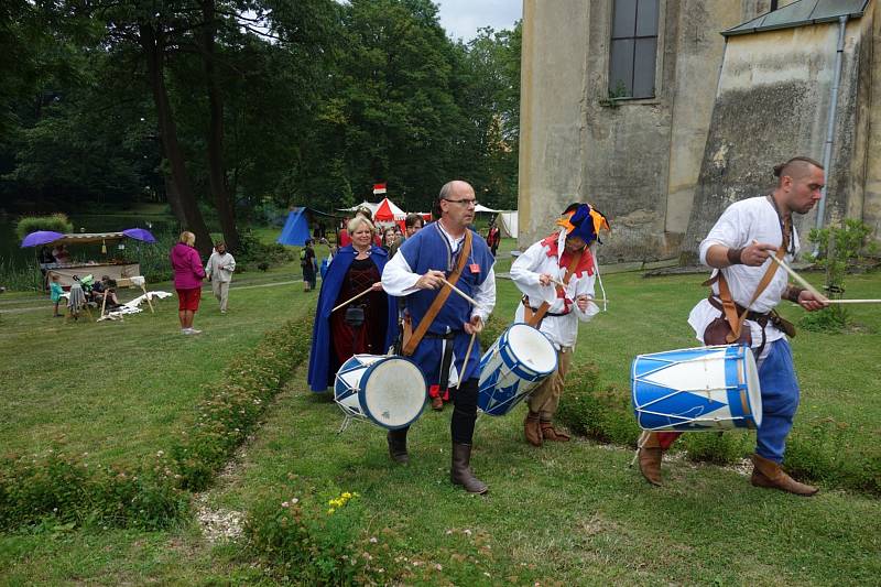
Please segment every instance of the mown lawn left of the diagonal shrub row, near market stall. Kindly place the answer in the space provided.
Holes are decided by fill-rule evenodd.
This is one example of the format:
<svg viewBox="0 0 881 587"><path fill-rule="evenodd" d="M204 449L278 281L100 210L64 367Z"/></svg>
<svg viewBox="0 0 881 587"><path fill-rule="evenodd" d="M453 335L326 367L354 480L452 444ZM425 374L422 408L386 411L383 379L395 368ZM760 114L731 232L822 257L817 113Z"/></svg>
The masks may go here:
<svg viewBox="0 0 881 587"><path fill-rule="evenodd" d="M263 284L286 275L281 269L254 274ZM293 275L290 275L291 278ZM249 274L249 278L251 275ZM253 346L263 333L303 312L314 297L295 284L230 291L230 312L221 315L205 291L196 327L184 337L176 298L124 322L70 322L51 317L45 297L14 296L3 308L24 301L45 311L4 313L0 355L0 446L3 453L40 454L51 447L89 453L101 461L131 464L164 449L180 431L182 415L215 381L227 361ZM174 291L168 283L151 290ZM121 290L123 300L134 291ZM4 294L6 295L6 294ZM28 307L28 306L25 306Z"/></svg>

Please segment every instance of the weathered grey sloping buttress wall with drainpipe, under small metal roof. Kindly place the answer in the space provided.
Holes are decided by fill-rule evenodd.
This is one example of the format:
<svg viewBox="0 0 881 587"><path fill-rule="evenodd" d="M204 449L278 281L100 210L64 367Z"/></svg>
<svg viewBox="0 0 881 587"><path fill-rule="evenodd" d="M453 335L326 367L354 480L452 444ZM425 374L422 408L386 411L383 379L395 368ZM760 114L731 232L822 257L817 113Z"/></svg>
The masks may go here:
<svg viewBox="0 0 881 587"><path fill-rule="evenodd" d="M867 25L871 19L847 28L827 218L841 218L851 202L862 200L868 111L859 102L860 96L867 100L869 77L860 77L859 66L860 57L868 58ZM837 40L837 23L729 37L683 242L685 262L694 261L728 205L773 189L774 164L796 154L823 160ZM814 222L815 211L796 222L803 237Z"/></svg>

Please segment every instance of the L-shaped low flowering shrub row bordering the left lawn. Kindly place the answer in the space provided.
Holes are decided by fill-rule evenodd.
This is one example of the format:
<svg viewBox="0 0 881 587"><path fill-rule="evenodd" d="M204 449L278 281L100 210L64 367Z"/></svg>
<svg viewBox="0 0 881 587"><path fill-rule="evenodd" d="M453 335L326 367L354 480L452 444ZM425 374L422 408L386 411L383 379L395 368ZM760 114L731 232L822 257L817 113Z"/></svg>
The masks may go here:
<svg viewBox="0 0 881 587"><path fill-rule="evenodd" d="M131 468L89 463L57 449L0 459L0 530L62 522L156 529L188 510L186 490L204 489L258 424L267 404L308 351L312 317L290 320L206 387L191 432L166 455Z"/></svg>

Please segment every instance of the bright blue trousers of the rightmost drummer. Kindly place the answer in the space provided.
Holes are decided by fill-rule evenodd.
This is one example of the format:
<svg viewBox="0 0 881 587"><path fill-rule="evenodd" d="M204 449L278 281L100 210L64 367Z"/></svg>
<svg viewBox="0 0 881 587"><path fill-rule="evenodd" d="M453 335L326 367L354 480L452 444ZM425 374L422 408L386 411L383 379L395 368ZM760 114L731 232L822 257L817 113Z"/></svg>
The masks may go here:
<svg viewBox="0 0 881 587"><path fill-rule="evenodd" d="M795 378L790 343L781 338L769 345L771 350L759 366L762 425L755 435L755 453L774 463L782 463L786 436L798 409L798 380Z"/></svg>

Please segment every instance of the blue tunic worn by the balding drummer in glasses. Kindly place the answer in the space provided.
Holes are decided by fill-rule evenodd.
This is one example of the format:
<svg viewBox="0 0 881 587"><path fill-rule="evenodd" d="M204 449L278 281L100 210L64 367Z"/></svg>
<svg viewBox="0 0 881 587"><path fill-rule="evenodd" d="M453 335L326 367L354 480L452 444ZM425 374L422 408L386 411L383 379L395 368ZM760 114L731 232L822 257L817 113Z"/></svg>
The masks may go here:
<svg viewBox="0 0 881 587"><path fill-rule="evenodd" d="M465 269L456 282L456 287L465 292L470 297L480 284L489 275L494 259L480 235L471 231L471 253L465 264ZM459 250L465 246L465 241L459 244ZM409 239L401 246L399 254L403 254L410 269L421 275L431 270L443 271L447 276L453 272L458 262L458 252L450 250L449 241L440 232L437 222L432 222ZM413 320L415 330L420 320L431 307L437 294L443 290L418 290L406 296L406 309ZM456 357L456 371L461 376L463 361L468 350L470 335L463 329L466 322L471 318L471 305L460 295L453 292L447 297L440 312L428 327L428 333L443 335L447 331L455 331L456 338L453 340L453 351ZM468 379L479 377L478 366L480 363L480 339L475 339L475 346L468 358ZM425 374L428 385L437 384L440 381L440 360L443 358L443 340L428 338L427 336L416 347L411 357L420 366Z"/></svg>

